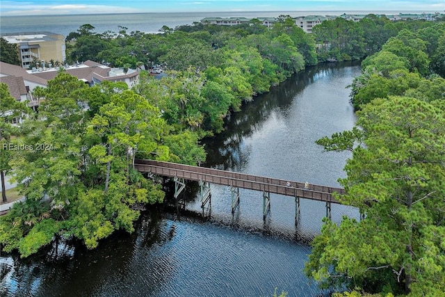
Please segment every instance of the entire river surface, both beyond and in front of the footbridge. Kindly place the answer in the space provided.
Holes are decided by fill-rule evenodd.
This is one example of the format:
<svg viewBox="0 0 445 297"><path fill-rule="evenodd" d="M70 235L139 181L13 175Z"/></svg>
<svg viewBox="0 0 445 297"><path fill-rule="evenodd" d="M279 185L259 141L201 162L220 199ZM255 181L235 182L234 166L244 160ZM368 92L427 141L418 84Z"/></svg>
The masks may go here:
<svg viewBox="0 0 445 297"><path fill-rule="evenodd" d="M207 140L205 166L338 186L349 155L323 152L314 141L353 127L345 87L359 71L312 67L256 97ZM262 193L240 189L234 216L229 188L211 185L211 193L205 222L193 215L200 204L188 191L180 218L153 209L134 234L117 233L96 250L59 244L29 259L1 255L0 296L272 296L275 287L289 296L327 294L302 273L325 204L302 200L295 227L293 198L271 195L264 223ZM358 217L332 206L333 220L343 215Z"/></svg>

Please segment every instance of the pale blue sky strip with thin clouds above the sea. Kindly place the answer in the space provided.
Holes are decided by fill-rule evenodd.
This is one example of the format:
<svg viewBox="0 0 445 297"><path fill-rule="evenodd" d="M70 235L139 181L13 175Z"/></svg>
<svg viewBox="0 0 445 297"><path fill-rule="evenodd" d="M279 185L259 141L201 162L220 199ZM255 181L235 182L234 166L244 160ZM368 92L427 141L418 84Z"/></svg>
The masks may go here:
<svg viewBox="0 0 445 297"><path fill-rule="evenodd" d="M0 16L65 15L88 13L164 13L218 11L439 11L444 13L445 0L0 0Z"/></svg>

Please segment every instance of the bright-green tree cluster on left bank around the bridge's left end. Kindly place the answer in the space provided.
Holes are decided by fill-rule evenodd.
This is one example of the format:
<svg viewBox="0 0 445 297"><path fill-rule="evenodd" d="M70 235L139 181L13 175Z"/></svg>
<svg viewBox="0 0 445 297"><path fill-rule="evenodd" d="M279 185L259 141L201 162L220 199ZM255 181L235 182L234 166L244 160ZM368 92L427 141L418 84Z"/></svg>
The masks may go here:
<svg viewBox="0 0 445 297"><path fill-rule="evenodd" d="M8 99L3 85L1 90L1 99ZM138 209L161 202L164 195L161 185L133 170L136 155L204 161L195 132L175 131L156 106L126 84L90 88L60 72L49 81L44 97L38 114L17 127L21 134L13 140L32 147L2 162L14 168L19 191L26 195L0 218L3 251L17 249L27 257L54 236L81 239L95 248L114 230L132 232ZM89 104L92 108L86 109Z"/></svg>

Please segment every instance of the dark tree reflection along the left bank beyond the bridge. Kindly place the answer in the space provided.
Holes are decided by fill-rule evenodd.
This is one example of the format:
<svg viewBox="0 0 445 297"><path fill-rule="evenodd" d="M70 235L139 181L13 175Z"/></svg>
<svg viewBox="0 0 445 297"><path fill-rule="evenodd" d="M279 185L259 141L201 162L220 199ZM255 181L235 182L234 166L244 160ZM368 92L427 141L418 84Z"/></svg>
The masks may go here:
<svg viewBox="0 0 445 297"><path fill-rule="evenodd" d="M242 146L245 138L252 136L256 131L261 131L271 113L278 110L283 115L288 115L289 106L307 86L327 75L343 71L345 66L352 65L357 66L359 64L356 62L337 63L309 67L305 72L296 74L280 86L272 88L269 93L255 97L254 102L243 104L241 112L234 113L226 119L223 133L204 140L204 145L209 154L203 166L243 172L243 165L245 165L245 160L248 159L247 156L249 155L249 150L243 150L244 147ZM355 74L358 73L359 67L355 67L353 71L355 71ZM321 86L320 88L325 87ZM346 86L330 87L342 89ZM341 92L342 95L348 96L348 90L341 91L343 91ZM316 97L317 94L311 96ZM348 103L346 102L346 104ZM315 116L323 115L315 114Z"/></svg>

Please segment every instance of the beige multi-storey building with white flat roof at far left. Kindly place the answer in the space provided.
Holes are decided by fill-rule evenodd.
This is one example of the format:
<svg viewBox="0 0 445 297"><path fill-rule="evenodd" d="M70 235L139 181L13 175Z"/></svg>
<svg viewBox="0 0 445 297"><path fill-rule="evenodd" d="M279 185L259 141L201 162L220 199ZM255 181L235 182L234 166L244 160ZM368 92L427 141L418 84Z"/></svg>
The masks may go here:
<svg viewBox="0 0 445 297"><path fill-rule="evenodd" d="M1 34L9 43L14 43L19 49L22 67L29 68L33 60L39 67L49 67L49 61L63 63L66 59L65 37L51 32L24 32Z"/></svg>

